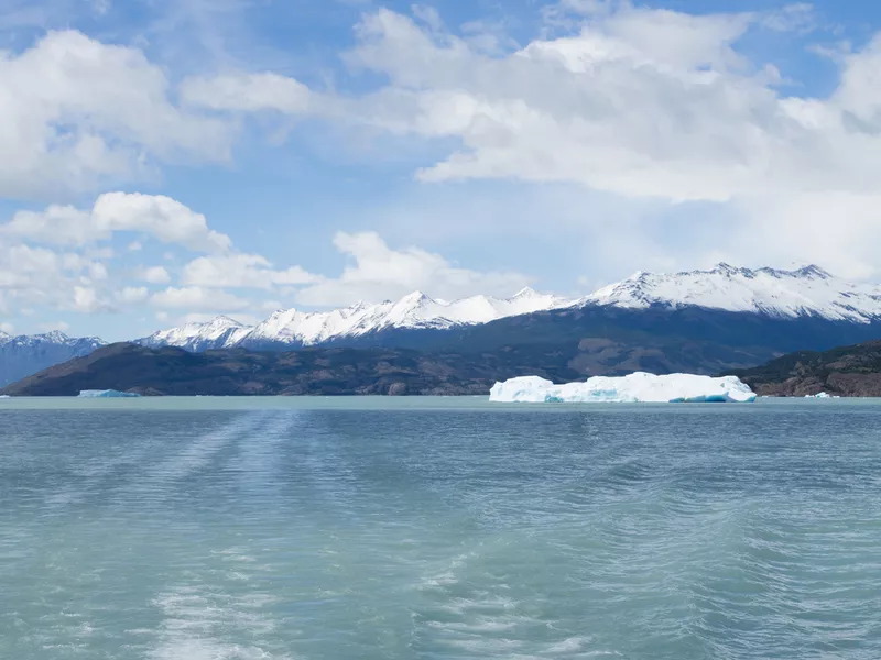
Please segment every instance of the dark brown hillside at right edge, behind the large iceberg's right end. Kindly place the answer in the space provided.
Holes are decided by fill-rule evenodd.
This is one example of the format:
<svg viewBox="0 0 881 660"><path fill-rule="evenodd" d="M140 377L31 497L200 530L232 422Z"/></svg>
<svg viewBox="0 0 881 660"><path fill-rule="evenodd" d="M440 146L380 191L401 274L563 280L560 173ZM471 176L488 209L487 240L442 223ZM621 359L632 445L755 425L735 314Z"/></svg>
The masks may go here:
<svg viewBox="0 0 881 660"><path fill-rule="evenodd" d="M881 397L881 341L830 351L798 351L754 369L733 372L757 394Z"/></svg>

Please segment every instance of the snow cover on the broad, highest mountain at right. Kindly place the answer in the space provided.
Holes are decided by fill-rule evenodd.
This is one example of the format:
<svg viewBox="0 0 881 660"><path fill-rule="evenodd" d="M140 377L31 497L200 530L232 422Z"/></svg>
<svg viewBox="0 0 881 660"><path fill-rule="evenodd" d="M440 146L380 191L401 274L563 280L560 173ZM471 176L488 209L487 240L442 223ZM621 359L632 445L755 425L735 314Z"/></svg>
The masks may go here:
<svg viewBox="0 0 881 660"><path fill-rule="evenodd" d="M628 309L696 306L777 318L814 316L868 323L881 319L881 286L850 284L813 265L796 271L753 271L720 263L710 271L640 272L579 304Z"/></svg>

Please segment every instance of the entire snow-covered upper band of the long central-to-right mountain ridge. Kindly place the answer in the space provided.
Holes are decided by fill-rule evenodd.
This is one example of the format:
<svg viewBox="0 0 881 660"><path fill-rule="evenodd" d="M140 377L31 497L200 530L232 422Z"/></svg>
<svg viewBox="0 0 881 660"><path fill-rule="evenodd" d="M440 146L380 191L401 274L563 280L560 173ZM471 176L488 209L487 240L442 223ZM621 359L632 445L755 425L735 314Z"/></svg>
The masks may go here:
<svg viewBox="0 0 881 660"><path fill-rule="evenodd" d="M817 266L781 271L737 268L722 263L709 271L637 273L580 299L525 288L508 299L474 296L447 302L415 292L398 302L358 302L327 312L280 310L253 327L221 316L205 323L163 330L137 342L192 351L291 349L339 342L385 344L389 342L383 333L393 331L452 330L541 311L689 307L774 319L811 317L866 324L881 320L881 286L851 284Z"/></svg>

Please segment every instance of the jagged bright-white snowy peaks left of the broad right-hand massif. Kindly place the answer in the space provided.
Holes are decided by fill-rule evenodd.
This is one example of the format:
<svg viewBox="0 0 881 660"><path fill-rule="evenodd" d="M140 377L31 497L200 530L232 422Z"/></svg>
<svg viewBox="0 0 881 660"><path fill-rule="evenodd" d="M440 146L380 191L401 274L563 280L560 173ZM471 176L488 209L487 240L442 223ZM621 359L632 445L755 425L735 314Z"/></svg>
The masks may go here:
<svg viewBox="0 0 881 660"><path fill-rule="evenodd" d="M187 323L138 340L148 346L172 345L189 351L209 349L309 346L334 340L363 337L389 329L449 329L488 323L497 319L558 309L574 304L557 296L524 288L511 298L472 296L438 300L415 292L392 302L358 302L331 311L284 309L254 327L218 317L207 323Z"/></svg>

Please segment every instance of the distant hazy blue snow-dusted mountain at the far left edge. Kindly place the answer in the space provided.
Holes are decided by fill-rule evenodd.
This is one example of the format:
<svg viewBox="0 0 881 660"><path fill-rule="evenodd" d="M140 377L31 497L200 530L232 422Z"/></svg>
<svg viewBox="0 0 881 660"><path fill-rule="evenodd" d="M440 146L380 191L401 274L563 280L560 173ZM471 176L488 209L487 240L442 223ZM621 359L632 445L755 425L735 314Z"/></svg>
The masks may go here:
<svg viewBox="0 0 881 660"><path fill-rule="evenodd" d="M102 345L105 342L97 337L73 338L57 331L19 337L0 332L0 386L88 355Z"/></svg>

